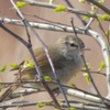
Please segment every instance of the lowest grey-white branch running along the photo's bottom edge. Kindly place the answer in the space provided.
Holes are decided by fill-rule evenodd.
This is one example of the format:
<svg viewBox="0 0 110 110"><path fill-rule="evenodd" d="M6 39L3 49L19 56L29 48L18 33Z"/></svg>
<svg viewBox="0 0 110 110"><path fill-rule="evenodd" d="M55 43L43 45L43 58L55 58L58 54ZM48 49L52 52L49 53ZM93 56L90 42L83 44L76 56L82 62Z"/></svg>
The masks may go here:
<svg viewBox="0 0 110 110"><path fill-rule="evenodd" d="M65 103L64 99L59 99L59 106L62 108L67 108L67 105ZM102 105L94 105L94 103L86 103L77 100L69 100L70 107L76 108L76 109L85 109L85 110L99 110L102 108L102 110L108 110L106 109L105 106ZM13 107L28 107L28 106L38 106L43 105L53 107L53 101L52 100L43 100L43 101L14 101L14 102L8 102L4 105L0 105L0 108L13 108Z"/></svg>

